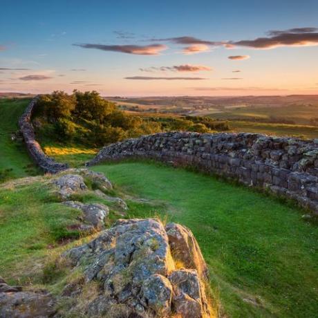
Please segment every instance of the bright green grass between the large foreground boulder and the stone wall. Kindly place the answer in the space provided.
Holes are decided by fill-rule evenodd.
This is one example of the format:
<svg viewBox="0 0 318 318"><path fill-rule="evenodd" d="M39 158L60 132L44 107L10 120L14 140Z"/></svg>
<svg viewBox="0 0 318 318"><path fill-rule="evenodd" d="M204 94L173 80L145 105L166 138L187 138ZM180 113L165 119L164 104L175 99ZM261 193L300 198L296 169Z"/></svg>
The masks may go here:
<svg viewBox="0 0 318 318"><path fill-rule="evenodd" d="M318 229L298 209L171 167L126 162L93 169L132 194L166 203L158 212L191 228L230 317L317 314Z"/></svg>

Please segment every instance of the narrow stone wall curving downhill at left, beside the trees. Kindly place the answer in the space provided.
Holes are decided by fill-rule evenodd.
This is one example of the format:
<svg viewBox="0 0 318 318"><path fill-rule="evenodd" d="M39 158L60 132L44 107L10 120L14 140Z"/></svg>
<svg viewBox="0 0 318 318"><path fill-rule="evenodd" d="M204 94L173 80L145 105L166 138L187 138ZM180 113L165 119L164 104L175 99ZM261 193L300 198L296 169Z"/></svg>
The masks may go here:
<svg viewBox="0 0 318 318"><path fill-rule="evenodd" d="M38 97L33 98L26 108L26 111L24 111L24 114L21 115L21 118L19 119L19 129L24 137L24 141L26 142L28 153L35 163L45 172L56 174L58 171L67 169L68 165L56 162L53 158L46 156L44 151L41 149L39 142L35 140L35 132L32 127L31 117L35 110L37 99Z"/></svg>

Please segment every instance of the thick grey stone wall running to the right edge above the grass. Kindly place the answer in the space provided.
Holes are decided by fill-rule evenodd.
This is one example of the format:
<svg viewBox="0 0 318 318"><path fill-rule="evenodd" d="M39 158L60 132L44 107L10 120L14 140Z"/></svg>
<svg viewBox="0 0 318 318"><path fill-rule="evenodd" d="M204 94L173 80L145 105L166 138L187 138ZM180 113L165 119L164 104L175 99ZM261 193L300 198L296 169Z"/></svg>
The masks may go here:
<svg viewBox="0 0 318 318"><path fill-rule="evenodd" d="M87 165L123 158L195 167L293 198L318 214L318 139L255 133L156 133L104 147Z"/></svg>

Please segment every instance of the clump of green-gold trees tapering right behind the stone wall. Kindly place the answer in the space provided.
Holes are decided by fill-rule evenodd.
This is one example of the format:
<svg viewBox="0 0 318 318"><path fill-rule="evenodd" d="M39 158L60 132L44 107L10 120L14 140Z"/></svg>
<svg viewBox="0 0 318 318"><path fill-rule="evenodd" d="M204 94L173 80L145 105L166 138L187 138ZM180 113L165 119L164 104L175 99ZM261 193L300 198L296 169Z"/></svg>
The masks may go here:
<svg viewBox="0 0 318 318"><path fill-rule="evenodd" d="M71 95L63 91L41 95L33 125L35 131L44 138L76 142L90 147L101 147L160 131L187 130L205 133L229 129L227 122L205 117L141 118L127 115L113 102L100 97L96 91L82 93L77 90Z"/></svg>

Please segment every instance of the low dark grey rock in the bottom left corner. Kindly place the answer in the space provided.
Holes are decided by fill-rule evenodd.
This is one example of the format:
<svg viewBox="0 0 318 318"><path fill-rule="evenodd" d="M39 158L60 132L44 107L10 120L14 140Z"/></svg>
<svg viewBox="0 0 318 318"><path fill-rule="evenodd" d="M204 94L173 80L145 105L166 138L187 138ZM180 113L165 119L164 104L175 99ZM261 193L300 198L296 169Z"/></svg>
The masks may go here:
<svg viewBox="0 0 318 318"><path fill-rule="evenodd" d="M55 300L45 290L22 291L0 277L1 318L48 318L55 312Z"/></svg>

